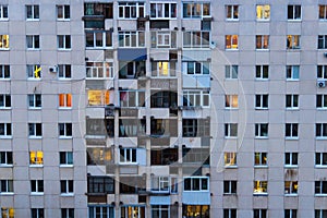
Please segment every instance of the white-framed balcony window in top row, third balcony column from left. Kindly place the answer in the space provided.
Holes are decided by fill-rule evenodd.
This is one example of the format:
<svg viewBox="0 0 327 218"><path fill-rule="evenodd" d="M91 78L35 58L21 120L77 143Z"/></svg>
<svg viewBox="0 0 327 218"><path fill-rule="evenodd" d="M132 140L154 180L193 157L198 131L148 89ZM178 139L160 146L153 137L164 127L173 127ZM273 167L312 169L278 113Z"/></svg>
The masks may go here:
<svg viewBox="0 0 327 218"><path fill-rule="evenodd" d="M175 19L177 3L150 3L152 19Z"/></svg>

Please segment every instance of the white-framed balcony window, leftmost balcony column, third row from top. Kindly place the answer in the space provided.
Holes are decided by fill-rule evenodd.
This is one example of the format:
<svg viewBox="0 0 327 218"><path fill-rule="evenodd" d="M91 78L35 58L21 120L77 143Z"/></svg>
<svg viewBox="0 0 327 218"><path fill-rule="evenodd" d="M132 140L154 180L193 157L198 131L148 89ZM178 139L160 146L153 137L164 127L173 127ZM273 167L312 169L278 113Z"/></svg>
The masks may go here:
<svg viewBox="0 0 327 218"><path fill-rule="evenodd" d="M86 78L113 78L113 63L86 62Z"/></svg>

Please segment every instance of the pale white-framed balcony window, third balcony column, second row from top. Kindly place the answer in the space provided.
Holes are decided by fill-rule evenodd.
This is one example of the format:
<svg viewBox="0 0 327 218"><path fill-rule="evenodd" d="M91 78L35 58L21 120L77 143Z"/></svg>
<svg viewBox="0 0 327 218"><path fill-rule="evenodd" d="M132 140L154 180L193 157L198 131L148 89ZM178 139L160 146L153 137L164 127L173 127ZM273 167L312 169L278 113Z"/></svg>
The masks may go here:
<svg viewBox="0 0 327 218"><path fill-rule="evenodd" d="M177 48L177 32L152 32L150 37L152 48Z"/></svg>

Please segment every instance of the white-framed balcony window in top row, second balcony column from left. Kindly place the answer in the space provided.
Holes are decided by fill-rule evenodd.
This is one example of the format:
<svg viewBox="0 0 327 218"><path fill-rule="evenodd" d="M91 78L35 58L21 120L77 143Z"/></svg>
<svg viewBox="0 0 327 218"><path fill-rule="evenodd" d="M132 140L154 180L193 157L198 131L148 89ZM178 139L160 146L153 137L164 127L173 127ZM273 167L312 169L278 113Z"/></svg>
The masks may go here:
<svg viewBox="0 0 327 218"><path fill-rule="evenodd" d="M144 2L119 2L118 12L119 19L145 17L145 4Z"/></svg>

